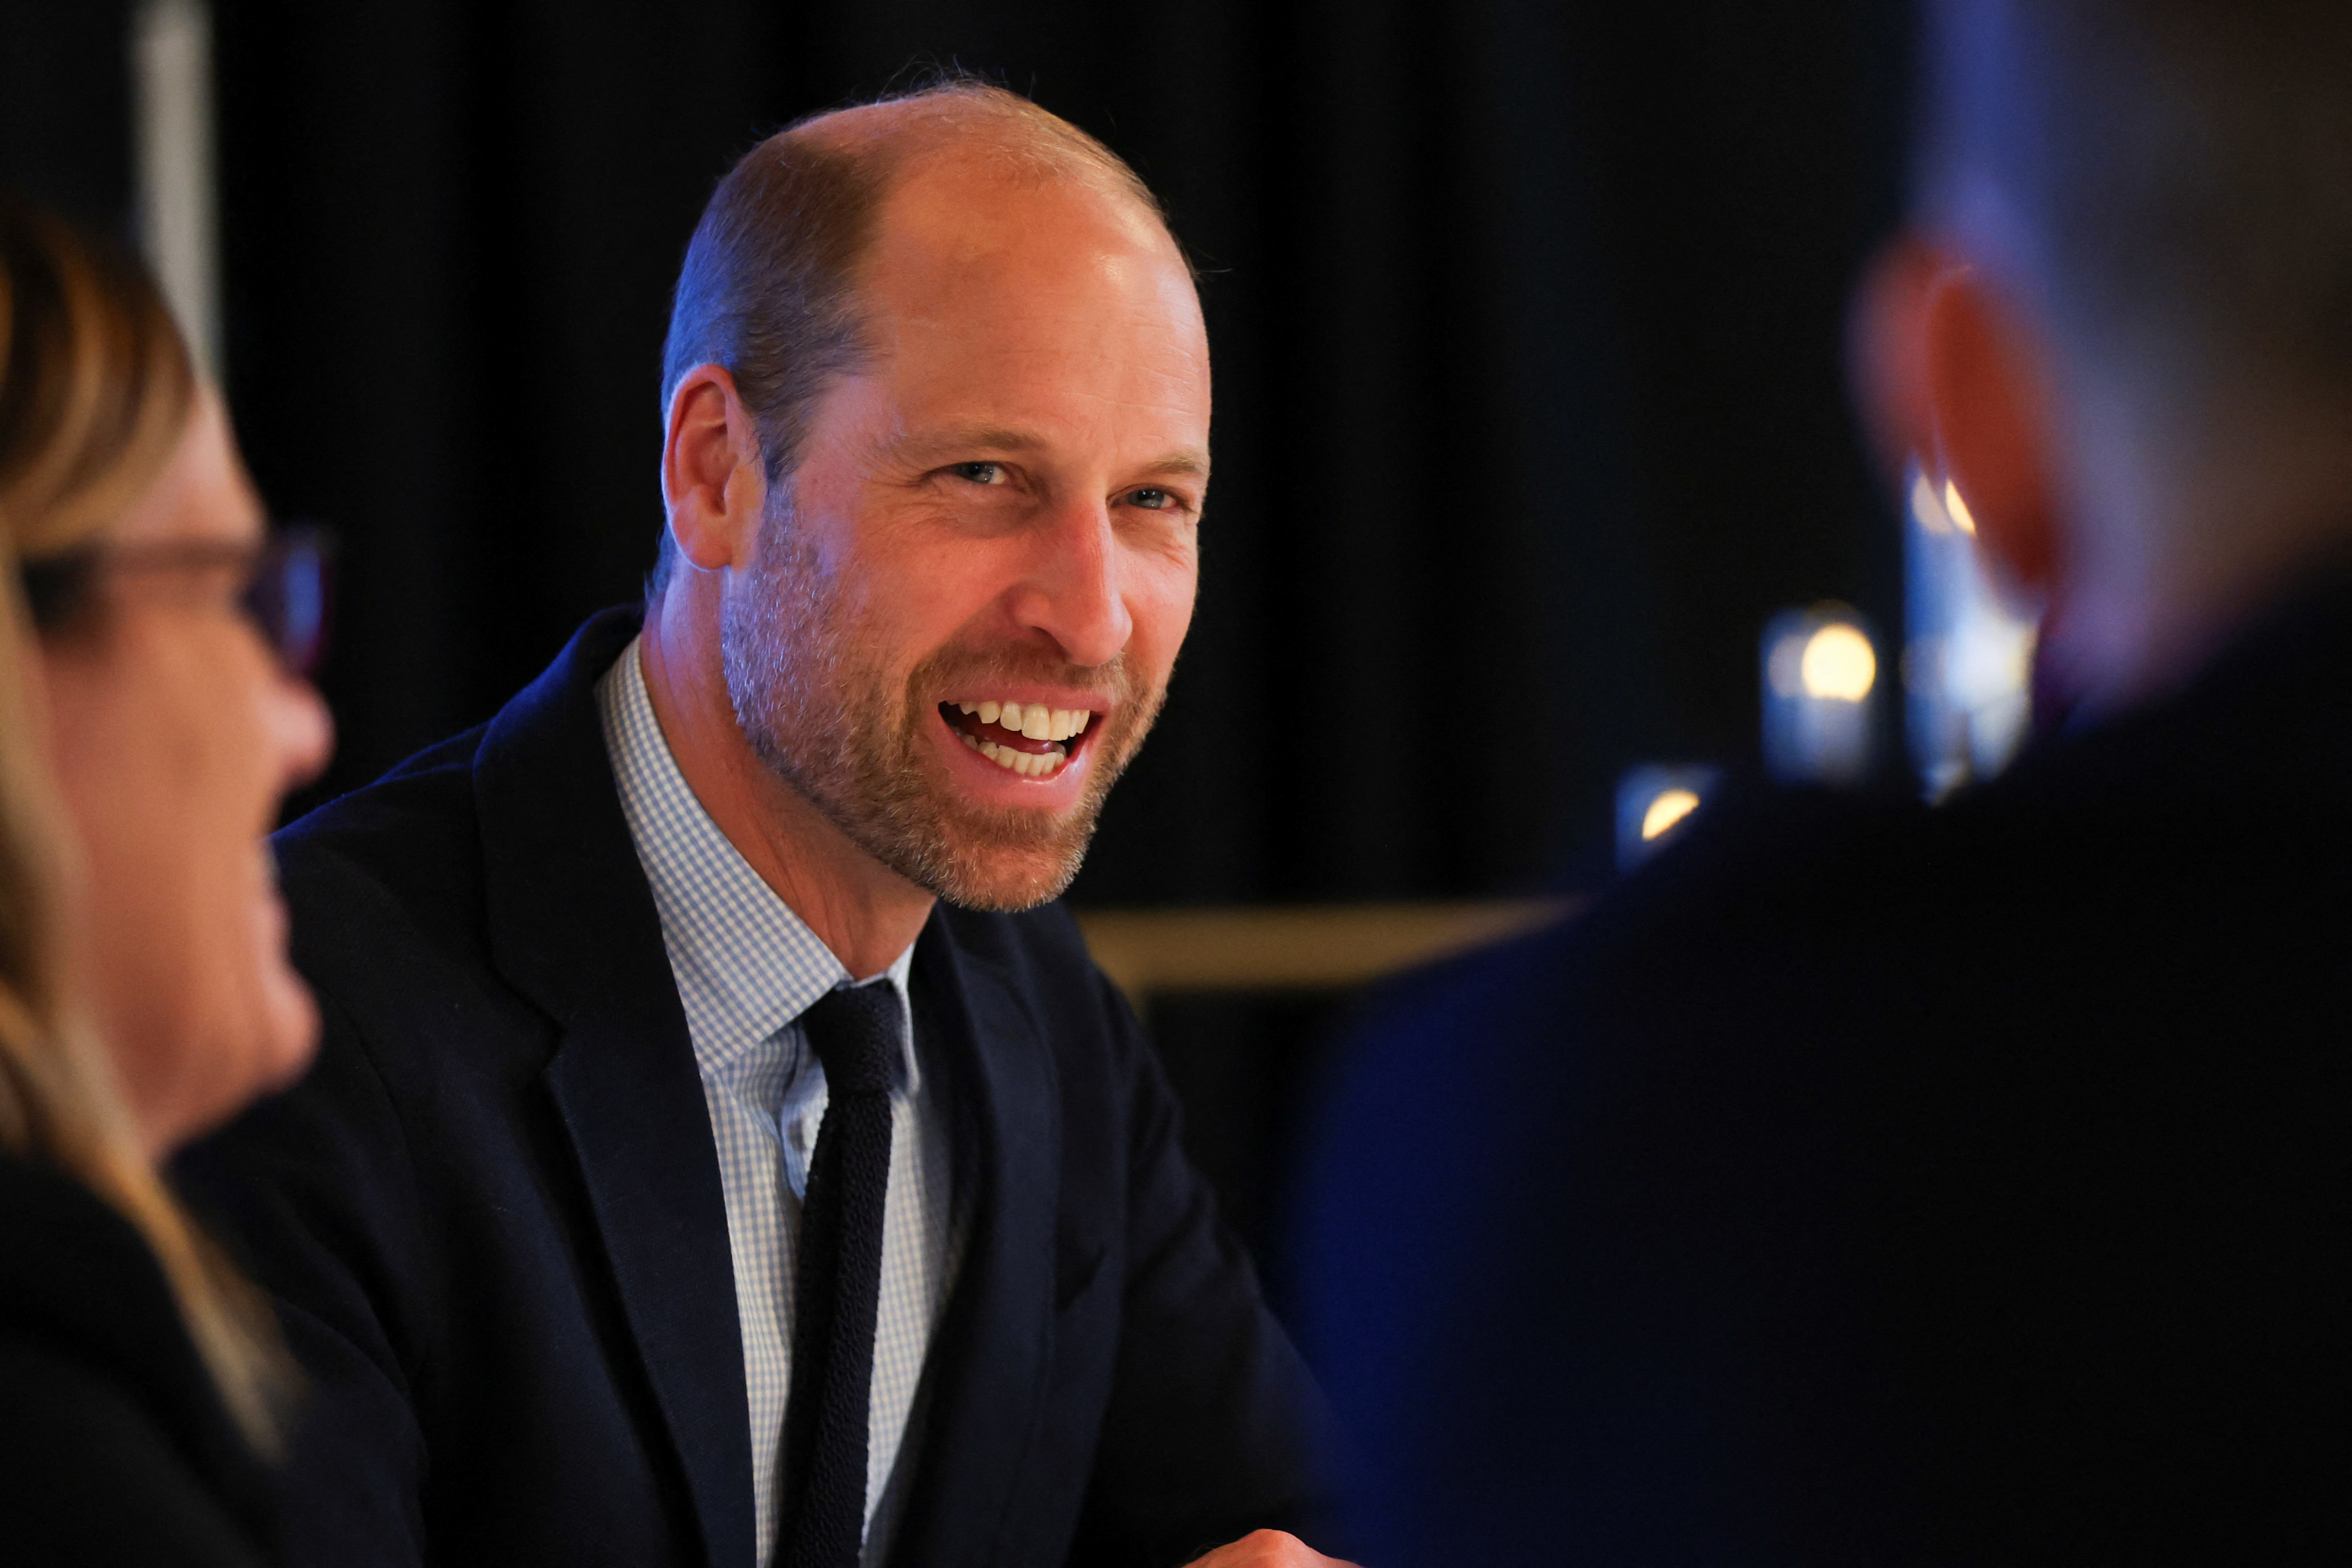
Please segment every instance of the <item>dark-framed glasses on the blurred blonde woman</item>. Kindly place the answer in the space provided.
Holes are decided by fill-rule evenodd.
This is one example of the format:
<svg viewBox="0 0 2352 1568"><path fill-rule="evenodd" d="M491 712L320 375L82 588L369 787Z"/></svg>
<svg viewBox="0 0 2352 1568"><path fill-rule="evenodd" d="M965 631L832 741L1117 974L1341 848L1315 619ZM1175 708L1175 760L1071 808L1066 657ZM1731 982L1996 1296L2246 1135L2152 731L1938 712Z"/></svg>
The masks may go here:
<svg viewBox="0 0 2352 1568"><path fill-rule="evenodd" d="M47 559L19 562L33 625L56 632L89 609L103 574L235 571L238 607L294 675L310 675L327 649L327 597L334 541L327 529L287 527L256 545L207 538L94 543Z"/></svg>

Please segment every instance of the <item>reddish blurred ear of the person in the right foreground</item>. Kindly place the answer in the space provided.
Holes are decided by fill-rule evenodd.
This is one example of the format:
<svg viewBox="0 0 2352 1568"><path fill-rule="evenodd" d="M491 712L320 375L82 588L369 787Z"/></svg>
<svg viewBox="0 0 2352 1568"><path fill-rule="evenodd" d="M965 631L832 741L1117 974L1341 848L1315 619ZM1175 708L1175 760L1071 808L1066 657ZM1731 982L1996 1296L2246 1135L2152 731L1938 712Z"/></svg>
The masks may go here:
<svg viewBox="0 0 2352 1568"><path fill-rule="evenodd" d="M1980 268L1947 259L1922 301L1919 371L1936 468L1978 543L2011 583L2046 595L2058 564L2053 390L2032 327Z"/></svg>

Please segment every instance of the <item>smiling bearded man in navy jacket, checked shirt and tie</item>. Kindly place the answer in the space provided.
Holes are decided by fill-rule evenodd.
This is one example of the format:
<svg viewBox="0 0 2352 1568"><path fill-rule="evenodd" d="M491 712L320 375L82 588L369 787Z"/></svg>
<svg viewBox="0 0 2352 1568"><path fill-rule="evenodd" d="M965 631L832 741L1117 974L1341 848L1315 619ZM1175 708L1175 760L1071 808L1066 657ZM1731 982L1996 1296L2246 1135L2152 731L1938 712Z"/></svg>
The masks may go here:
<svg viewBox="0 0 2352 1568"><path fill-rule="evenodd" d="M663 414L642 616L280 844L320 1067L188 1175L318 1389L296 1559L1327 1561L1305 1373L1042 907L1192 614L1157 207L990 87L793 127Z"/></svg>

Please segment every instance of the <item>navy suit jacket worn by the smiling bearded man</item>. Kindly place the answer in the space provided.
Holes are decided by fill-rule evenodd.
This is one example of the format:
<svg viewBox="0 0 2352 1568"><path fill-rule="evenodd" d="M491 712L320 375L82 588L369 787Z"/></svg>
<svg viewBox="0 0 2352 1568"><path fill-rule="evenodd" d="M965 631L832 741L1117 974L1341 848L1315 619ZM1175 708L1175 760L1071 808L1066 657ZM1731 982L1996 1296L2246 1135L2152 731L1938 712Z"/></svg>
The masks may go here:
<svg viewBox="0 0 2352 1568"><path fill-rule="evenodd" d="M320 1058L181 1175L315 1382L296 1561L753 1563L717 1154L593 696L635 630L278 839ZM1068 914L941 905L913 997L969 1246L896 1561L1298 1528L1315 1394Z"/></svg>

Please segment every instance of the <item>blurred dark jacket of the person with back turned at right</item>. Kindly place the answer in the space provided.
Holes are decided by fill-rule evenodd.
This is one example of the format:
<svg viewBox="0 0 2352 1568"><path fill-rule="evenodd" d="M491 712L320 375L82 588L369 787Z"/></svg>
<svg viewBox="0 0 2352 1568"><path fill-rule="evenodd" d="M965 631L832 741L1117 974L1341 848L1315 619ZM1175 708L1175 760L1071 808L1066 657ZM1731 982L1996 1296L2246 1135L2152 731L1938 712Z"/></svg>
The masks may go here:
<svg viewBox="0 0 2352 1568"><path fill-rule="evenodd" d="M1733 804L1399 987L1301 1269L1348 1544L2345 1561L2347 806L2338 585L1943 809Z"/></svg>

